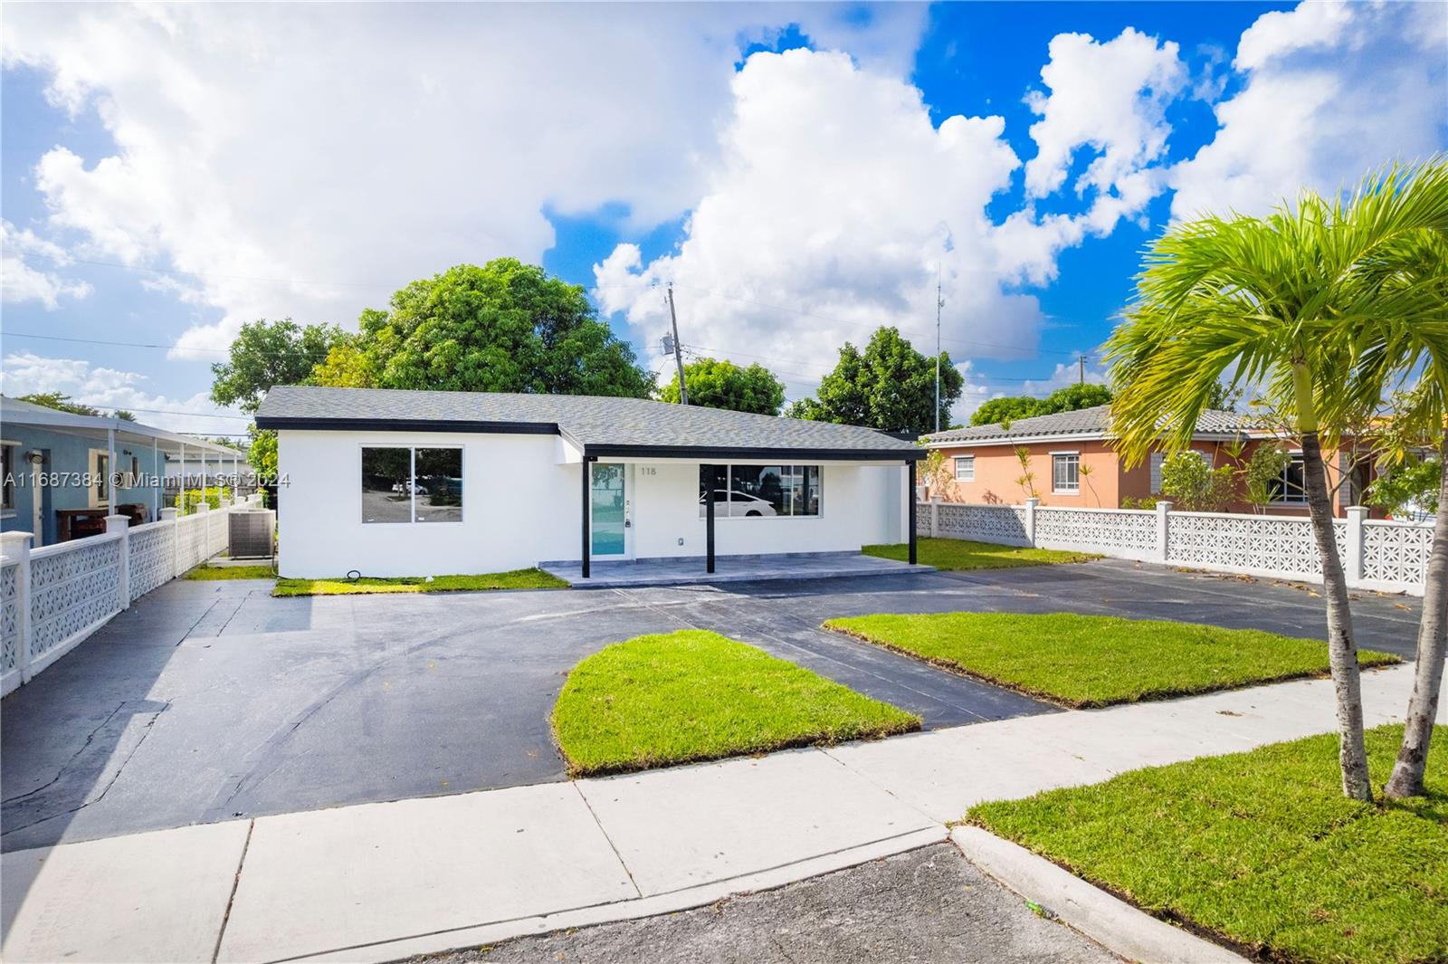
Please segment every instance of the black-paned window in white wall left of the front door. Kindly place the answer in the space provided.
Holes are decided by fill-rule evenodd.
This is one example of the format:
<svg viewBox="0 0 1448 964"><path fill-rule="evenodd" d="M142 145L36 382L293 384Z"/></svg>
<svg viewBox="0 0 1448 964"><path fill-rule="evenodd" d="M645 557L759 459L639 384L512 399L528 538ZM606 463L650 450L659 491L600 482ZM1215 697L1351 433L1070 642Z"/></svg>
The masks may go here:
<svg viewBox="0 0 1448 964"><path fill-rule="evenodd" d="M363 523L460 523L462 449L362 449Z"/></svg>

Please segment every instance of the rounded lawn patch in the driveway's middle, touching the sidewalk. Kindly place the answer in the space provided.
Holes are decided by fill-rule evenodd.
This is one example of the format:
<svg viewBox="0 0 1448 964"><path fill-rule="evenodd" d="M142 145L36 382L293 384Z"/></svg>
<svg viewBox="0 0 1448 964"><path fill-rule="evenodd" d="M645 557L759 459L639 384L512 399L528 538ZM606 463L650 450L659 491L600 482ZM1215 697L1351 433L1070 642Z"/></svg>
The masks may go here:
<svg viewBox="0 0 1448 964"><path fill-rule="evenodd" d="M704 630L640 635L594 653L568 675L553 706L573 776L885 737L919 724Z"/></svg>

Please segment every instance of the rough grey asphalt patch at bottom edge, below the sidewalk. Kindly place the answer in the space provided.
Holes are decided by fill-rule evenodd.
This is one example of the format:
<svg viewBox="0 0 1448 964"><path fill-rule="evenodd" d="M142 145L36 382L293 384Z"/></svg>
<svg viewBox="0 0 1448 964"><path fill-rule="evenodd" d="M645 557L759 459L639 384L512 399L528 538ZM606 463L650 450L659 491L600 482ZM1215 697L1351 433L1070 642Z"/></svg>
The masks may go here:
<svg viewBox="0 0 1448 964"><path fill-rule="evenodd" d="M1034 964L1118 961L1037 916L951 844L641 921L518 938L411 964Z"/></svg>

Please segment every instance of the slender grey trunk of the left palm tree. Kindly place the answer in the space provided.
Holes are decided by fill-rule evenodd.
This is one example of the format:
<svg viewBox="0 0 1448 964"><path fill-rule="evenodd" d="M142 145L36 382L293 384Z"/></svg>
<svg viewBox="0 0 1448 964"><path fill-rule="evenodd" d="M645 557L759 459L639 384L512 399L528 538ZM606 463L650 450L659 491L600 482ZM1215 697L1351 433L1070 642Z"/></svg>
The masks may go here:
<svg viewBox="0 0 1448 964"><path fill-rule="evenodd" d="M1316 430L1302 433L1302 475L1308 491L1308 515L1322 560L1322 595L1328 601L1328 664L1338 696L1338 761L1342 764L1342 795L1371 800L1373 785L1367 776L1367 748L1363 743L1363 677L1358 672L1357 641L1352 638L1352 611L1348 608L1348 580L1338 559L1338 540L1332 531L1332 501L1322 465L1322 446Z"/></svg>

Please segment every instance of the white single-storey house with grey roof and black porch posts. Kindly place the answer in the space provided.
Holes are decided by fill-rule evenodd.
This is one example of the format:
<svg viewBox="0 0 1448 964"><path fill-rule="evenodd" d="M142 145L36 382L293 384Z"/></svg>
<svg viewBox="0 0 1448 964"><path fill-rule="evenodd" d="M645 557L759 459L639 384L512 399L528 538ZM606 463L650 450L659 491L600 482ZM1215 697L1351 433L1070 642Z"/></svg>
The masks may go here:
<svg viewBox="0 0 1448 964"><path fill-rule="evenodd" d="M873 428L637 398L274 388L282 576L909 543L924 450ZM712 496L712 498L711 498Z"/></svg>

